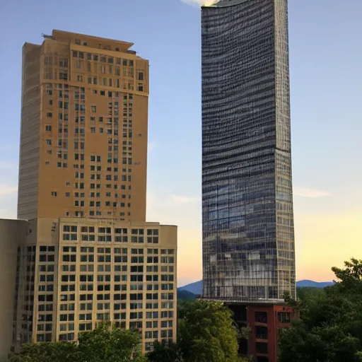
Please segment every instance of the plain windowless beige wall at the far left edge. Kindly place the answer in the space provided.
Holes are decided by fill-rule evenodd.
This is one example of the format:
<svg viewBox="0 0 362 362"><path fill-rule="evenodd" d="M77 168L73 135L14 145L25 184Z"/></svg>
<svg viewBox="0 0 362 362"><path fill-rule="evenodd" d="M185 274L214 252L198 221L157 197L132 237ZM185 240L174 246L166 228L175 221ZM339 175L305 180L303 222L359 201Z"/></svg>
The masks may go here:
<svg viewBox="0 0 362 362"><path fill-rule="evenodd" d="M0 220L0 361L3 361L11 346L11 331L14 315L15 285L18 279L18 247L25 241L27 221Z"/></svg>

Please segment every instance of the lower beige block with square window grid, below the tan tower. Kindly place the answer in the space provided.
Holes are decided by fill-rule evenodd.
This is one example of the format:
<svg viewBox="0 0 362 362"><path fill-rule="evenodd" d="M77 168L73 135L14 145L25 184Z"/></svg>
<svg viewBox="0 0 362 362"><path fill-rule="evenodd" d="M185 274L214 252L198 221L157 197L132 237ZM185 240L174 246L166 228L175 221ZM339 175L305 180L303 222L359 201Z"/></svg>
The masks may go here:
<svg viewBox="0 0 362 362"><path fill-rule="evenodd" d="M40 218L28 223L25 238L16 349L21 342L74 341L104 320L138 329L144 351L154 340L175 340L176 226Z"/></svg>

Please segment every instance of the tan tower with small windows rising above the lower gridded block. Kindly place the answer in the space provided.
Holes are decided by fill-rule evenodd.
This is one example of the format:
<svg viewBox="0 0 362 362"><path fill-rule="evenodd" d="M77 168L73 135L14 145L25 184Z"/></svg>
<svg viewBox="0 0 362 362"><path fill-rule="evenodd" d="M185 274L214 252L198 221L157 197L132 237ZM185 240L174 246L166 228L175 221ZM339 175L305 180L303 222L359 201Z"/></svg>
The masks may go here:
<svg viewBox="0 0 362 362"><path fill-rule="evenodd" d="M18 218L146 220L148 61L53 30L23 46Z"/></svg>

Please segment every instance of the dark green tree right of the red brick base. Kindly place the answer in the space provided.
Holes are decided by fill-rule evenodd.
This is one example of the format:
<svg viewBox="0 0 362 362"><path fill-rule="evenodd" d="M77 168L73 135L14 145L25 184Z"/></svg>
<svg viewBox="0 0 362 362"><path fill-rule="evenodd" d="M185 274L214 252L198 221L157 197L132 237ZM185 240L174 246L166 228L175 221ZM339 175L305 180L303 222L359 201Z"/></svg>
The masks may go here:
<svg viewBox="0 0 362 362"><path fill-rule="evenodd" d="M304 296L300 320L282 331L280 362L362 361L362 260L332 268L337 283Z"/></svg>

